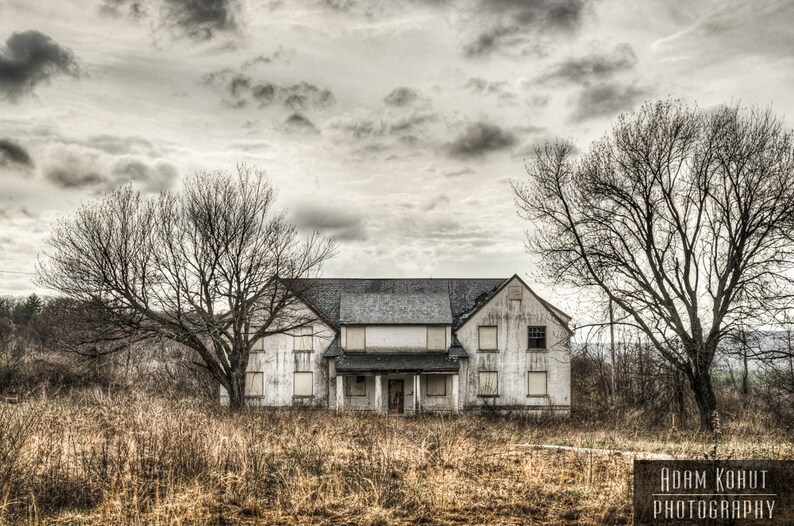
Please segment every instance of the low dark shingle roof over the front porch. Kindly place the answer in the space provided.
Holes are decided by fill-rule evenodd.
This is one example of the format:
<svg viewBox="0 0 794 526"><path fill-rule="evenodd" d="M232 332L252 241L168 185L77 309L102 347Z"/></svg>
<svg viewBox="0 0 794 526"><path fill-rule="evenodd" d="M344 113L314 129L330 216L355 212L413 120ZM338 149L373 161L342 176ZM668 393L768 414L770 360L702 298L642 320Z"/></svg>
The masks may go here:
<svg viewBox="0 0 794 526"><path fill-rule="evenodd" d="M344 354L336 359L340 373L425 373L458 372L457 356L427 354Z"/></svg>

